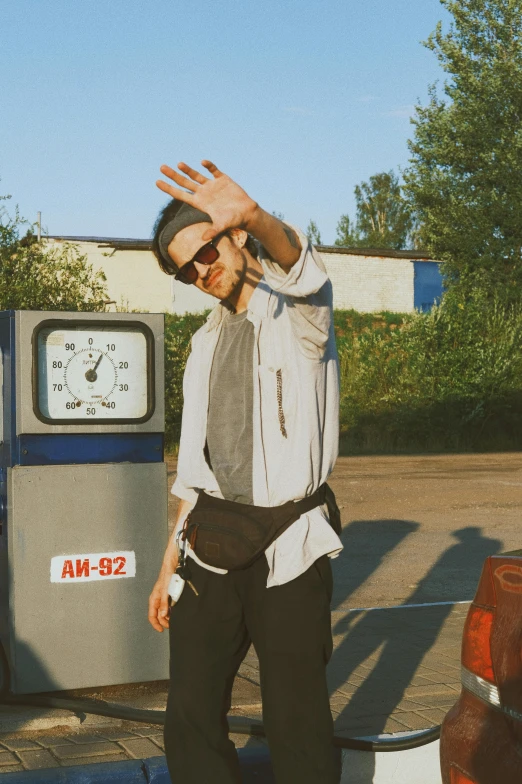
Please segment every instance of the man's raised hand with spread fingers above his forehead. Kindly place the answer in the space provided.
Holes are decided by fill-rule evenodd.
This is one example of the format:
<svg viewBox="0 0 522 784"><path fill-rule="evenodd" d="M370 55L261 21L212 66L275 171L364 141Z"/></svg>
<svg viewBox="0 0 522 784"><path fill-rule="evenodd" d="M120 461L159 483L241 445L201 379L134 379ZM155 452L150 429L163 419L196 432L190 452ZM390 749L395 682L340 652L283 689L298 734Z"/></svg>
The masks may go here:
<svg viewBox="0 0 522 784"><path fill-rule="evenodd" d="M226 229L248 231L258 209L257 203L212 161L201 161L201 165L212 178L205 177L182 162L178 163L179 172L170 166L160 167L162 174L179 185L179 188L164 180L157 180L156 185L174 199L184 201L210 215L212 226L203 234L203 240L208 242Z"/></svg>

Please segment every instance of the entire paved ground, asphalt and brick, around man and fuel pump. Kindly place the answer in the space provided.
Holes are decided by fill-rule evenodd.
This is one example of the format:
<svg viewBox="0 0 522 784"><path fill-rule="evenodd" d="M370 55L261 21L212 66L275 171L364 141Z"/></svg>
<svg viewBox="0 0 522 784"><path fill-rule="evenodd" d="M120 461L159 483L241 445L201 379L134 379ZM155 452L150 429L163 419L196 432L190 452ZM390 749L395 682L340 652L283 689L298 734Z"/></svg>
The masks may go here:
<svg viewBox="0 0 522 784"><path fill-rule="evenodd" d="M329 673L337 732L439 724L460 690L467 605L398 606L471 599L484 558L522 547L522 455L341 458L331 484L345 544L334 562ZM169 503L173 520L175 499ZM103 696L160 708L165 684ZM261 715L253 651L236 680L232 712ZM0 708L0 773L160 754L157 727Z"/></svg>

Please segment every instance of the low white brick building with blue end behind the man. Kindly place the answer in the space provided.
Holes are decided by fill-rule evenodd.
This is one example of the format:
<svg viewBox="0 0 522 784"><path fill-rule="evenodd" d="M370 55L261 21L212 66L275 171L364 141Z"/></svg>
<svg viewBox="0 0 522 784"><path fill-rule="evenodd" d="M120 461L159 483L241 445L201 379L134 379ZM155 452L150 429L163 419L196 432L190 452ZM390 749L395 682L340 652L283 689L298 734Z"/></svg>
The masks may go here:
<svg viewBox="0 0 522 784"><path fill-rule="evenodd" d="M213 298L165 275L150 240L111 237L49 237L50 244L74 243L107 278L109 309L151 313L197 313ZM334 291L334 307L372 313L427 310L442 292L439 262L418 251L337 248L320 245Z"/></svg>

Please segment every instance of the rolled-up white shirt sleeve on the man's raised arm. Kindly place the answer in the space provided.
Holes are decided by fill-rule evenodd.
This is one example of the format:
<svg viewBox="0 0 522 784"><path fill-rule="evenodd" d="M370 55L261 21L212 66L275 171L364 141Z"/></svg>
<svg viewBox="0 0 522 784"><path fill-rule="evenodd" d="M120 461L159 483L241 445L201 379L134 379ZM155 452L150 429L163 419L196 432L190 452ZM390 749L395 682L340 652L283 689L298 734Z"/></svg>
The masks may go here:
<svg viewBox="0 0 522 784"><path fill-rule="evenodd" d="M290 224L286 224L290 226ZM263 246L259 248L259 260L263 267L265 279L274 291L289 297L308 297L320 291L328 281L328 275L318 252L303 232L290 226L301 242L301 255L286 273L274 261Z"/></svg>

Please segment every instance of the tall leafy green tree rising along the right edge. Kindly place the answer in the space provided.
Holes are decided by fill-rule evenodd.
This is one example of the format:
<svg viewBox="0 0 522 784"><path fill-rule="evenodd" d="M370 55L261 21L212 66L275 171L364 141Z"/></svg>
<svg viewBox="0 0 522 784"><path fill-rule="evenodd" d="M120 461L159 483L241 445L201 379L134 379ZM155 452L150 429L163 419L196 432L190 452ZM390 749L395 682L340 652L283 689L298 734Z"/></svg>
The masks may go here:
<svg viewBox="0 0 522 784"><path fill-rule="evenodd" d="M522 291L522 0L441 0L452 14L425 46L448 75L417 106L405 190L423 247L450 281Z"/></svg>

